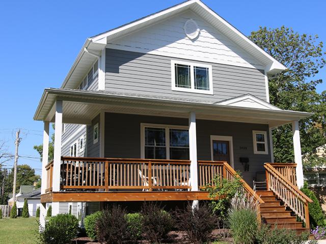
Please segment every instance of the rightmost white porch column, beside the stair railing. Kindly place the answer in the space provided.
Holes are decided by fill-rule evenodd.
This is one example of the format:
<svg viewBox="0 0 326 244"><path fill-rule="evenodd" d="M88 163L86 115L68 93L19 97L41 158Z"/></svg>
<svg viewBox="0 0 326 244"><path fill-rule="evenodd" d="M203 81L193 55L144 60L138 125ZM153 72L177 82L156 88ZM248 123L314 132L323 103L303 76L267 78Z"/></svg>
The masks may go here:
<svg viewBox="0 0 326 244"><path fill-rule="evenodd" d="M293 132L293 147L294 147L294 161L296 163L296 184L298 188L304 186L304 172L302 168L302 157L301 157L301 143L300 143L300 131L299 121L292 121L292 132Z"/></svg>

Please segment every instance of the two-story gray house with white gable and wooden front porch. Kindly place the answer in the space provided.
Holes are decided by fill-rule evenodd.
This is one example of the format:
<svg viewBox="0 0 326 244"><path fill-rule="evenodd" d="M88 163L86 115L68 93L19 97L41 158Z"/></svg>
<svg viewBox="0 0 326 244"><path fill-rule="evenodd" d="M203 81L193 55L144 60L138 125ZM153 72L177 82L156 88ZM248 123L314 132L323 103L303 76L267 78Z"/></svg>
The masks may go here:
<svg viewBox="0 0 326 244"><path fill-rule="evenodd" d="M41 212L50 202L52 215L71 205L81 219L107 202L196 204L209 199L201 188L216 175L239 170L257 199L253 180L268 176L270 191L257 192L267 223L301 225L276 194L309 226L310 199L294 185L303 185L298 120L312 114L269 104L267 76L285 69L199 0L88 38L34 115L44 121ZM274 160L271 130L284 124L293 127L296 166L264 165Z"/></svg>

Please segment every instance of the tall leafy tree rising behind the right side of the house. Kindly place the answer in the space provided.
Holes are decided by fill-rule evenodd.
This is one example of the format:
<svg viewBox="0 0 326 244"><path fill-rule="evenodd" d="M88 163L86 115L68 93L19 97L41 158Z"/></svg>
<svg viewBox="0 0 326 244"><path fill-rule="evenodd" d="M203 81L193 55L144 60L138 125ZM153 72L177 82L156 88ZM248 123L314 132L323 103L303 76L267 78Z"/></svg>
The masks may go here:
<svg viewBox="0 0 326 244"><path fill-rule="evenodd" d="M317 93L316 86L322 80L313 79L326 64L323 44L318 42L318 36L301 35L285 26L260 27L249 38L287 68L268 76L270 103L282 109L314 113L300 120L302 153L308 158L304 162L312 166L309 157L318 146L326 144L326 91ZM276 162L294 161L293 150L289 150L293 148L291 125L273 130L273 143Z"/></svg>

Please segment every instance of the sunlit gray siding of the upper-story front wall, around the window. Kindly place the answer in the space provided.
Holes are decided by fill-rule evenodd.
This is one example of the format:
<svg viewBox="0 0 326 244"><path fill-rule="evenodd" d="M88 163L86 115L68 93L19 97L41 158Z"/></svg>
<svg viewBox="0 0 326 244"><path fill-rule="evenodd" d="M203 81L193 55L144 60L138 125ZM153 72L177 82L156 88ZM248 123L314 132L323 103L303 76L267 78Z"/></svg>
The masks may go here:
<svg viewBox="0 0 326 244"><path fill-rule="evenodd" d="M171 60L186 59L106 49L105 89L141 95L218 102L251 94L266 100L264 71L230 65L212 66L214 95L178 92L171 89ZM188 60L196 62L196 60ZM198 62L202 63L202 62Z"/></svg>

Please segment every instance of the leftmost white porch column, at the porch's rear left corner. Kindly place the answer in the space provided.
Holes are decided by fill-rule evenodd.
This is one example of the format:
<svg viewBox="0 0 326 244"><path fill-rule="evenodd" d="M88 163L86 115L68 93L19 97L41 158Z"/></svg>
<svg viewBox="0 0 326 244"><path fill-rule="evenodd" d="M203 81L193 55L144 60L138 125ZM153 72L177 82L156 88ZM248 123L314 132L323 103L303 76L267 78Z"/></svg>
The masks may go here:
<svg viewBox="0 0 326 244"><path fill-rule="evenodd" d="M45 193L45 188L47 183L45 166L48 164L48 158L49 158L49 125L50 123L48 121L44 121L41 194ZM45 227L45 216L46 216L45 205L46 205L45 203L40 205L40 228Z"/></svg>

